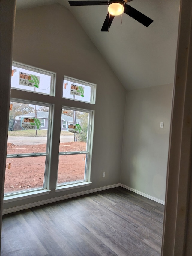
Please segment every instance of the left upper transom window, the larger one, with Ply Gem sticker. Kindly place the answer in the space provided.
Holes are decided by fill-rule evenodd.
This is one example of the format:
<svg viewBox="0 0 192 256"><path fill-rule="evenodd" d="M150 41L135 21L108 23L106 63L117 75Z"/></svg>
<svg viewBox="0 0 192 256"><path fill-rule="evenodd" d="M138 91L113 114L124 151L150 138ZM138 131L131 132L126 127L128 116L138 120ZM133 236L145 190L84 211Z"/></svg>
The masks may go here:
<svg viewBox="0 0 192 256"><path fill-rule="evenodd" d="M54 74L23 65L12 66L11 88L52 95Z"/></svg>

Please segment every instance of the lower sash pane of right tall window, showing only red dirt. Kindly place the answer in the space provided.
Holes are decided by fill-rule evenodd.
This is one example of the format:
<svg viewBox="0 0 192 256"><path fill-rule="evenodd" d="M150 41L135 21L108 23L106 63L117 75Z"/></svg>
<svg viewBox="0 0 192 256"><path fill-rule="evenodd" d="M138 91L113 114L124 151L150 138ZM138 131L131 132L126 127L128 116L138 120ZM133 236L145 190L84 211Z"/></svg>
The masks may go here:
<svg viewBox="0 0 192 256"><path fill-rule="evenodd" d="M85 180L86 154L60 155L57 185Z"/></svg>

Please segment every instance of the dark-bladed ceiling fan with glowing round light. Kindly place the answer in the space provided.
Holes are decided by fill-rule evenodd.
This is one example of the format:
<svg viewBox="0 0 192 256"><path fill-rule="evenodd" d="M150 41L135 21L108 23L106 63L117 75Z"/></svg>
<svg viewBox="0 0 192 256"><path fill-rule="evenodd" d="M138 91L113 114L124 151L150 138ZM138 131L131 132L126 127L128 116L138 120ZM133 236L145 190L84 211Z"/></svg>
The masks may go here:
<svg viewBox="0 0 192 256"><path fill-rule="evenodd" d="M144 26L148 27L153 20L142 14L140 11L137 11L130 5L127 5L128 2L132 0L124 1L69 1L70 6L85 6L85 5L108 5L108 14L104 21L101 31L109 31L111 23L115 16L122 14L123 12L139 21Z"/></svg>

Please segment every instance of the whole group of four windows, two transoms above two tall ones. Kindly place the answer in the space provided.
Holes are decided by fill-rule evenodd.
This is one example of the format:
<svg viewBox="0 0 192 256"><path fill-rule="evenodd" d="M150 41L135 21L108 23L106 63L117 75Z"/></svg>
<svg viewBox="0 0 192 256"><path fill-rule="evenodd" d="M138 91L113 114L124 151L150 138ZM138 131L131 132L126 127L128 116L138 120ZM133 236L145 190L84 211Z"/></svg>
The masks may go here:
<svg viewBox="0 0 192 256"><path fill-rule="evenodd" d="M58 88L55 96L54 83L52 72L13 63L5 200L91 184L87 106L95 103L96 87L64 77L63 94Z"/></svg>

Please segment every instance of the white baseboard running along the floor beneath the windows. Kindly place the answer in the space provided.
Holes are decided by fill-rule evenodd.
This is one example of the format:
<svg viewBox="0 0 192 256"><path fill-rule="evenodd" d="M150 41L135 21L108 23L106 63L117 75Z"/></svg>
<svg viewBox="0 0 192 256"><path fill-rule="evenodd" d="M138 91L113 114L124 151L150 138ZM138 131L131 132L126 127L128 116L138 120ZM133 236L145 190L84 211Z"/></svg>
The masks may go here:
<svg viewBox="0 0 192 256"><path fill-rule="evenodd" d="M121 183L118 183L118 184L113 184L113 185L109 185L109 186L105 186L105 187L101 187L101 188L93 188L93 189L85 190L85 191L78 192L78 193L68 194L68 195L64 195L64 196L61 196L61 197L53 197L53 198L38 201L38 202L35 202L35 203L28 203L28 204L24 204L24 205L21 205L21 206L11 207L11 208L8 208L8 209L4 209L3 214L7 214L7 213L11 213L11 212L18 212L18 211L21 211L21 210L24 210L24 209L29 209L29 208L44 205L44 204L47 204L47 203L53 203L53 202L61 201L61 200L64 200L64 199L68 199L68 198L72 198L72 197L78 197L78 196L82 196L82 195L85 195L85 194L90 194L90 193L102 191L102 190L109 189L109 188L116 188L116 187L120 187L120 186L121 186Z"/></svg>

